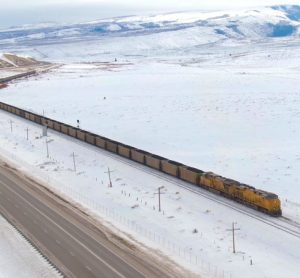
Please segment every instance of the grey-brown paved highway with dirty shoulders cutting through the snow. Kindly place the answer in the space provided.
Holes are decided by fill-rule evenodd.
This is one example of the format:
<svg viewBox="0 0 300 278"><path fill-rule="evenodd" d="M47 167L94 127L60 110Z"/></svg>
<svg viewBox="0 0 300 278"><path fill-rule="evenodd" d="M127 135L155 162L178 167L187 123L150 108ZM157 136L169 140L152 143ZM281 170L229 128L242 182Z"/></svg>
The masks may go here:
<svg viewBox="0 0 300 278"><path fill-rule="evenodd" d="M182 277L0 161L0 212L67 277Z"/></svg>

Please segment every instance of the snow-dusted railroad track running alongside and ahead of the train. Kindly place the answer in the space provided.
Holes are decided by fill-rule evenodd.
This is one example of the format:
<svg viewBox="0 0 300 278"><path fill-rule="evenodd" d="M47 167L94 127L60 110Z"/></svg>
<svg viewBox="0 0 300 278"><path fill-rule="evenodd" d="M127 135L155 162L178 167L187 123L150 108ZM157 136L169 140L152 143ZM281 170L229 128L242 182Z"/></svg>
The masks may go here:
<svg viewBox="0 0 300 278"><path fill-rule="evenodd" d="M77 142L79 144L83 144L83 142ZM294 237L300 238L300 223L293 222L287 217L281 216L278 218L275 218L273 216L268 216L262 212L256 211L250 207L247 207L245 205L242 205L240 203L237 203L235 201L232 201L230 199L226 199L225 197L222 197L220 195L211 193L201 187L196 187L193 184L189 184L185 181L181 181L175 177L168 176L167 174L161 173L155 169L151 169L147 166L141 165L139 163L136 163L134 161L131 161L129 159L123 158L119 156L118 154L110 153L106 150L98 149L99 152L104 154L107 157L113 158L115 160L118 160L124 164L129 165L130 167L136 168L142 172L145 172L147 174L150 174L152 176L156 176L159 179L165 180L167 182L170 182L172 184L175 184L185 190L188 190L190 192L193 192L199 196L202 196L206 199L209 199L215 203L221 204L223 206L229 207L241 214L247 215L248 217L251 217L253 219L256 219L257 221L260 221L268 226L272 226L278 230L281 230L285 233L288 233Z"/></svg>

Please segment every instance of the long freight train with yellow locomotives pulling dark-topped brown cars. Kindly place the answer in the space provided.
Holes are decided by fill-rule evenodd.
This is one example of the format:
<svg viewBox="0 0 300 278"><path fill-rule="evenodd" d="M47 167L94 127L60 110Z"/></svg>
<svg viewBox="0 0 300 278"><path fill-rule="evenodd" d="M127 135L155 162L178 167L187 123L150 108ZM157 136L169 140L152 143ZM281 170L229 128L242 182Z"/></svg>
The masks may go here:
<svg viewBox="0 0 300 278"><path fill-rule="evenodd" d="M204 172L176 161L125 145L109 138L34 114L0 102L0 108L60 133L118 154L157 171L171 175L211 192L220 194L272 216L281 215L281 204L276 194L256 189L211 172Z"/></svg>

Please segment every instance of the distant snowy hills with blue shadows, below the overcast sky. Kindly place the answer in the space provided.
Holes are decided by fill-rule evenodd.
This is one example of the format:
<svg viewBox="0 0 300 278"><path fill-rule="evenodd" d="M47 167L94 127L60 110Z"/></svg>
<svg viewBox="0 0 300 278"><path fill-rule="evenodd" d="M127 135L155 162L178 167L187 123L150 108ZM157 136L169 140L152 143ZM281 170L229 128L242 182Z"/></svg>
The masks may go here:
<svg viewBox="0 0 300 278"><path fill-rule="evenodd" d="M0 29L3 52L49 62L115 57L195 57L300 39L300 6L127 16L86 23ZM53 47L56 45L56 47ZM265 47L265 46L263 46ZM281 47L281 46L280 46ZM205 55L206 56L205 56ZM223 57L224 58L224 57Z"/></svg>

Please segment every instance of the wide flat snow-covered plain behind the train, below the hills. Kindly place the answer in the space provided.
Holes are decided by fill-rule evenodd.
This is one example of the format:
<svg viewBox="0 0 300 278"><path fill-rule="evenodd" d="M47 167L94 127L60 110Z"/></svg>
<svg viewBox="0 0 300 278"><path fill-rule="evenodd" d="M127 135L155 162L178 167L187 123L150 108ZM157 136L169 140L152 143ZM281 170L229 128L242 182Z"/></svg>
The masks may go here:
<svg viewBox="0 0 300 278"><path fill-rule="evenodd" d="M0 100L298 202L300 81L293 69L67 65ZM45 97L47 96L47 97Z"/></svg>

